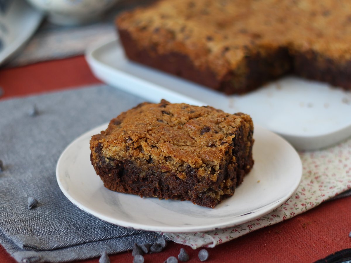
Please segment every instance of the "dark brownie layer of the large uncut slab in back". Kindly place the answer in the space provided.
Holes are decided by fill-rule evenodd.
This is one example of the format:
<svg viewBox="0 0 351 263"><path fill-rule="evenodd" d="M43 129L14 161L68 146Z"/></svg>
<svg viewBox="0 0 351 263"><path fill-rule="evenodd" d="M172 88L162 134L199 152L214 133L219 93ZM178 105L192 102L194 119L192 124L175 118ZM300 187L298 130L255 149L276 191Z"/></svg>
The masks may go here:
<svg viewBox="0 0 351 263"><path fill-rule="evenodd" d="M211 69L199 70L184 54L172 52L156 56L152 50L138 49L128 31L119 30L121 42L128 59L167 73L183 77L206 87L230 94L250 92L285 74L296 74L306 79L318 80L351 90L351 61L343 64L313 51L289 54L289 49L280 47L265 54L247 55L243 64L245 74L228 72L217 79Z"/></svg>

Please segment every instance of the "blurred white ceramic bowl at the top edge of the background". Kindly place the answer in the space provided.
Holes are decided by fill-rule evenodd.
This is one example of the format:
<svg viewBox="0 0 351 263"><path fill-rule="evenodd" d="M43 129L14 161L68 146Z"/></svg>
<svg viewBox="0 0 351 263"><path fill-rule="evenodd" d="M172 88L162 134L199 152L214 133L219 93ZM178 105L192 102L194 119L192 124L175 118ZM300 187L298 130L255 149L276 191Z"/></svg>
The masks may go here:
<svg viewBox="0 0 351 263"><path fill-rule="evenodd" d="M97 20L118 0L27 0L48 13L48 19L59 25L80 25Z"/></svg>

